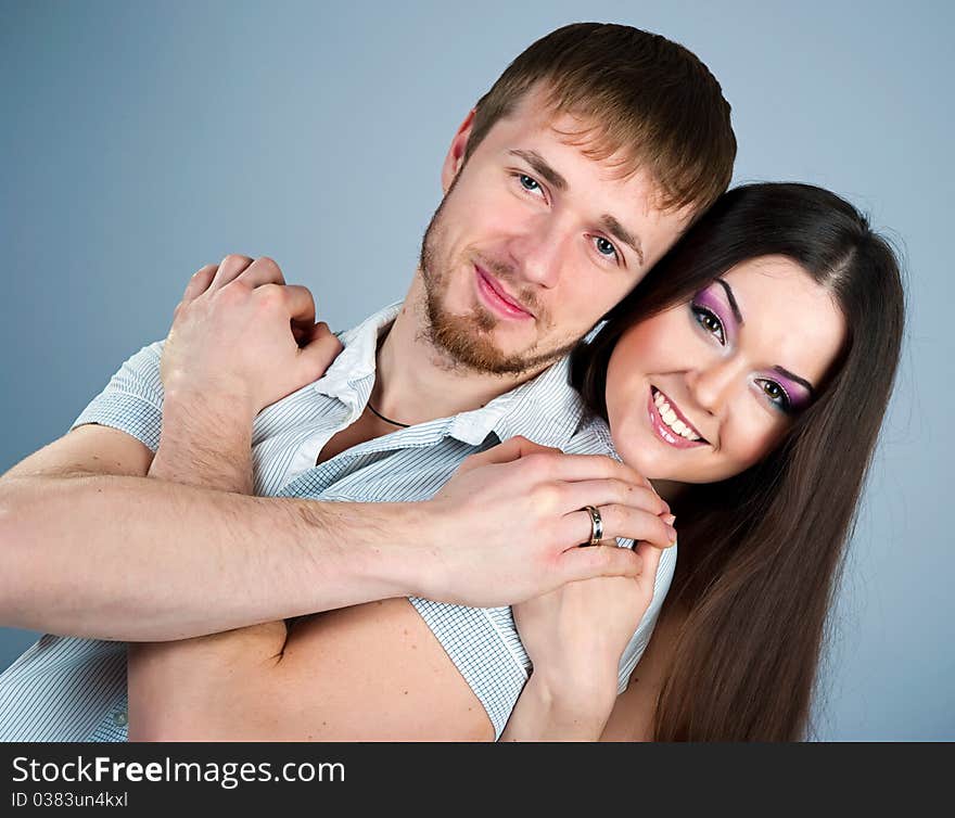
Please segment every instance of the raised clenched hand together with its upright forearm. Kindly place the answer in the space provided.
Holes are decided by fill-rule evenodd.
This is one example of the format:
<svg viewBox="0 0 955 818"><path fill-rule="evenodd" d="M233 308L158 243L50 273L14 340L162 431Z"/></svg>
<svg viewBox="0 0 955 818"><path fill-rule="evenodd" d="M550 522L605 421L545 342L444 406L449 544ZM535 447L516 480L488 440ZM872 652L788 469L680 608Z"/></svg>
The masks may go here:
<svg viewBox="0 0 955 818"><path fill-rule="evenodd" d="M342 350L304 286L270 258L226 256L189 281L160 375L165 401L151 477L252 494L252 422L324 374Z"/></svg>

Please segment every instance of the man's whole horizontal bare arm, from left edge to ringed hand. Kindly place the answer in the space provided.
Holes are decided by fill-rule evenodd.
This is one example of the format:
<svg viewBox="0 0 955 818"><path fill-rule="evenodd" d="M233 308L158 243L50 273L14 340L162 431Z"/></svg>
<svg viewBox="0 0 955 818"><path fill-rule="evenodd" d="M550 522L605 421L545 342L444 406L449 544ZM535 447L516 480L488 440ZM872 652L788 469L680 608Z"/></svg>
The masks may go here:
<svg viewBox="0 0 955 818"><path fill-rule="evenodd" d="M607 536L668 538L625 466L522 445L474 456L433 500L341 503L137 476L142 444L81 426L0 478L0 623L162 641L393 597L509 604L636 574L628 549L575 547L588 501Z"/></svg>

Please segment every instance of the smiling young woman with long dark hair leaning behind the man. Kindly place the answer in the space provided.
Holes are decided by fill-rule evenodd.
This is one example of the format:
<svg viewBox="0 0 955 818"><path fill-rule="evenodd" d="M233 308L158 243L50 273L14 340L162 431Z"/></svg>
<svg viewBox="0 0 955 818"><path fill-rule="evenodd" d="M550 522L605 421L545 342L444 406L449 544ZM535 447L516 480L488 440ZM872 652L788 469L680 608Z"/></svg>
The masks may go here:
<svg viewBox="0 0 955 818"><path fill-rule="evenodd" d="M514 606L534 673L502 739L798 740L899 361L895 257L838 196L725 194L575 353L617 451L676 515L653 638L616 696L646 588Z"/></svg>

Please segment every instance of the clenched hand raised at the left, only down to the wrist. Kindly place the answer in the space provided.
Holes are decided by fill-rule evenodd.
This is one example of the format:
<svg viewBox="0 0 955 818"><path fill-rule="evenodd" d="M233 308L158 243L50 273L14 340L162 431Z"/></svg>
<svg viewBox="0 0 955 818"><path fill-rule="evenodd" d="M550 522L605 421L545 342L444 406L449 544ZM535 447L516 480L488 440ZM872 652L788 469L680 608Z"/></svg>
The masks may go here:
<svg viewBox="0 0 955 818"><path fill-rule="evenodd" d="M270 258L230 255L190 280L161 374L167 398L201 397L251 424L265 407L321 376L341 349L328 325L315 323L307 287L285 284Z"/></svg>

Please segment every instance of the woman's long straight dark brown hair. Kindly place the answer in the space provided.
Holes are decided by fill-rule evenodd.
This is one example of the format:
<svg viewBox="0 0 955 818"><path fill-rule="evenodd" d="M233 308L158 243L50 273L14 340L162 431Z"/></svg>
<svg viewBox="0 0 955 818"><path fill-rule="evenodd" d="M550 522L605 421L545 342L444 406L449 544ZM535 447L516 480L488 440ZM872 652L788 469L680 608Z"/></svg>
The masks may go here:
<svg viewBox="0 0 955 818"><path fill-rule="evenodd" d="M827 614L900 356L895 255L865 217L806 184L726 193L574 352L572 380L607 417L607 363L636 321L687 302L735 265L799 263L830 291L848 337L815 402L742 474L671 503L671 597L689 611L658 701L659 741L805 737ZM798 332L799 316L792 316Z"/></svg>

